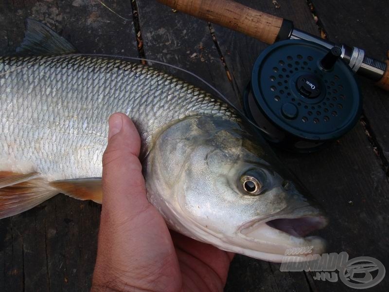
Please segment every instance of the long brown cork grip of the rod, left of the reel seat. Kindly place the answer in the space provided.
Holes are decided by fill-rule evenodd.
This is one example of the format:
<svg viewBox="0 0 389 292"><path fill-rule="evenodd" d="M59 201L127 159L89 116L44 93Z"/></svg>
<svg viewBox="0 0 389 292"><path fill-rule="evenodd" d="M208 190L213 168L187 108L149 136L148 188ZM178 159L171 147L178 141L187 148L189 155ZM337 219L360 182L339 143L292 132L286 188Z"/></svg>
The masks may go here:
<svg viewBox="0 0 389 292"><path fill-rule="evenodd" d="M231 0L158 0L183 13L255 37L265 43L276 41L283 18L249 8Z"/></svg>

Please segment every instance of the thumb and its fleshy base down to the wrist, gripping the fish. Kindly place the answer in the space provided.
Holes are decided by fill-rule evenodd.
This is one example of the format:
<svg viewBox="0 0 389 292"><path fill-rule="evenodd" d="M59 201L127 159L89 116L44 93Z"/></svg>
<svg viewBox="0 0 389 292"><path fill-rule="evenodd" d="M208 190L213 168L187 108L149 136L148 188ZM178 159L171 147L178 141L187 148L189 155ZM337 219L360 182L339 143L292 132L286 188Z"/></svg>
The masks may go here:
<svg viewBox="0 0 389 292"><path fill-rule="evenodd" d="M167 274L179 274L166 223L146 198L140 148L131 120L113 114L103 155L103 206L92 291L108 284L115 291L124 286L151 290L170 283Z"/></svg>

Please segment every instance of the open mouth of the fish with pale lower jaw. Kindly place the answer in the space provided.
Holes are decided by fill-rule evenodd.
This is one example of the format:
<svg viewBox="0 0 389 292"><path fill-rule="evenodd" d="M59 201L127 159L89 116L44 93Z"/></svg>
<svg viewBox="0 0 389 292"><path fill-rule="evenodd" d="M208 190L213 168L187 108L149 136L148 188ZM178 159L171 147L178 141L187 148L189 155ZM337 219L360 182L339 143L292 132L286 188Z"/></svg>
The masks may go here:
<svg viewBox="0 0 389 292"><path fill-rule="evenodd" d="M328 224L324 216L299 218L272 218L257 220L240 228L247 255L261 253L261 258L281 262L285 256L306 256L322 254L326 242L318 236L307 236ZM266 255L266 256L264 256Z"/></svg>

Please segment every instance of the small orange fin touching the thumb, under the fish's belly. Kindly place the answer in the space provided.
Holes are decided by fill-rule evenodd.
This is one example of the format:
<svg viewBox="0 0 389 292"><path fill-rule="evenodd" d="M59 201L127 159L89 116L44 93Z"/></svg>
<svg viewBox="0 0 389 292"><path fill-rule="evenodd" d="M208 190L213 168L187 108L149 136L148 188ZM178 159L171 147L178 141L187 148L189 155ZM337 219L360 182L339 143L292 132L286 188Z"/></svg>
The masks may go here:
<svg viewBox="0 0 389 292"><path fill-rule="evenodd" d="M92 200L99 204L103 201L101 178L54 181L49 184L74 199Z"/></svg>

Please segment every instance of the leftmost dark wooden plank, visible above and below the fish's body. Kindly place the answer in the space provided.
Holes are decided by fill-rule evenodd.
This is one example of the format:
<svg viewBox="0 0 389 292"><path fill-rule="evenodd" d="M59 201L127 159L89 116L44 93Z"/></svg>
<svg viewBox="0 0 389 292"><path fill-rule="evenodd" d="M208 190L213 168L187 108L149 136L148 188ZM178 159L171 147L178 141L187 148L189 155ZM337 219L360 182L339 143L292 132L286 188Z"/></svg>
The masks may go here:
<svg viewBox="0 0 389 292"><path fill-rule="evenodd" d="M131 3L104 2L132 19ZM15 52L28 17L46 23L82 53L138 56L132 20L88 0L1 1L0 55ZM0 291L89 291L100 209L58 195L0 220Z"/></svg>

